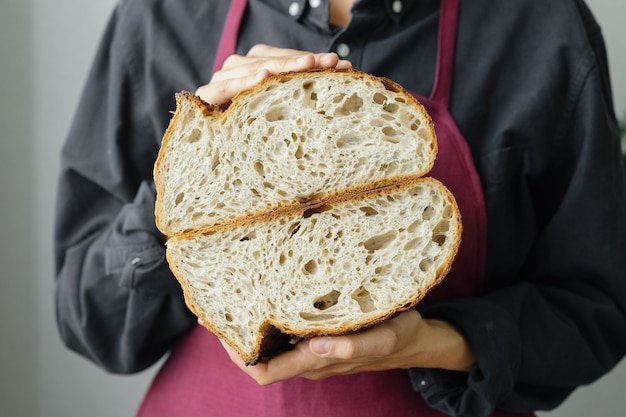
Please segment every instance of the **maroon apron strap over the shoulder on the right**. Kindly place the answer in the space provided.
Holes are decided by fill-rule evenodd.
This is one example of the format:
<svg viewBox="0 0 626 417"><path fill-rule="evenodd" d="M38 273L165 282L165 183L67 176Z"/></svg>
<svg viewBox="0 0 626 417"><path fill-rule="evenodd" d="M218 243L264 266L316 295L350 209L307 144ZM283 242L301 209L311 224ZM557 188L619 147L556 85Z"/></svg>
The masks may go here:
<svg viewBox="0 0 626 417"><path fill-rule="evenodd" d="M459 0L441 0L441 11L439 13L437 73L435 74L435 83L430 99L440 103L447 109L452 84Z"/></svg>

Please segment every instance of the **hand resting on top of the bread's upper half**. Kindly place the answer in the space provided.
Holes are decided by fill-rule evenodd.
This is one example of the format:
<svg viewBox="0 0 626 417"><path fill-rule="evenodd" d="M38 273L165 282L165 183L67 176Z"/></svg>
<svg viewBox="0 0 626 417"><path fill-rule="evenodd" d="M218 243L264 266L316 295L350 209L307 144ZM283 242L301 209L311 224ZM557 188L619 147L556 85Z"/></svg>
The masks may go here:
<svg viewBox="0 0 626 417"><path fill-rule="evenodd" d="M211 82L199 87L196 94L207 103L226 107L237 93L254 87L270 75L315 68L351 67L349 61L340 60L332 52L313 54L259 44L245 56L228 57L222 69L213 74Z"/></svg>

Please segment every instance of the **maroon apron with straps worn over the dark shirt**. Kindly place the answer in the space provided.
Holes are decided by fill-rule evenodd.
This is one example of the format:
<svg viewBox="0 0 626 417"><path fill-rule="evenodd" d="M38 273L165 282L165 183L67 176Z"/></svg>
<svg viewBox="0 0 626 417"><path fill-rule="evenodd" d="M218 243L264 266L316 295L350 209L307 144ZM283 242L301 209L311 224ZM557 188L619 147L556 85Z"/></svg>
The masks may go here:
<svg viewBox="0 0 626 417"><path fill-rule="evenodd" d="M214 70L235 53L246 0L233 0ZM443 282L420 305L478 294L485 257L485 207L469 147L448 112L458 0L442 0L437 73L430 98L417 97L435 124L439 152L432 176L455 195L464 231L459 253ZM148 417L359 416L442 417L411 388L406 370L364 372L321 381L294 378L261 387L229 359L218 339L196 326L155 377L137 416ZM494 417L518 416L496 412Z"/></svg>

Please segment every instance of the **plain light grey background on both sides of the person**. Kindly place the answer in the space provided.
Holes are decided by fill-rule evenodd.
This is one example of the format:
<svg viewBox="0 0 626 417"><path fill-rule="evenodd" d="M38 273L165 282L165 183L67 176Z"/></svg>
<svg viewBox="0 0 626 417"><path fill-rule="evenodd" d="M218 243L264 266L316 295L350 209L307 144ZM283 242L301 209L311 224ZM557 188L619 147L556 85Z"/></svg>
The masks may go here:
<svg viewBox="0 0 626 417"><path fill-rule="evenodd" d="M207 0L210 1L210 0ZM549 1L549 0L546 0ZM67 351L54 325L58 155L114 0L0 0L0 416L130 416L156 367L109 375ZM626 113L626 5L589 0ZM542 417L626 415L626 361Z"/></svg>

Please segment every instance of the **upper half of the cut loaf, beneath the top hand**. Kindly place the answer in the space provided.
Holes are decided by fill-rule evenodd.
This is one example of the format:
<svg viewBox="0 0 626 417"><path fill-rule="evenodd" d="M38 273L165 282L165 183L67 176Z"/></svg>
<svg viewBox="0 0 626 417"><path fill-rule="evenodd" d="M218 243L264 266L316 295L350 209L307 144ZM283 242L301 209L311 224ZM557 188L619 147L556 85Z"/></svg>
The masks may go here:
<svg viewBox="0 0 626 417"><path fill-rule="evenodd" d="M421 177L437 151L411 94L355 70L271 77L224 112L176 101L154 169L168 236Z"/></svg>

